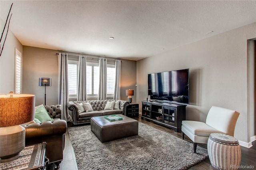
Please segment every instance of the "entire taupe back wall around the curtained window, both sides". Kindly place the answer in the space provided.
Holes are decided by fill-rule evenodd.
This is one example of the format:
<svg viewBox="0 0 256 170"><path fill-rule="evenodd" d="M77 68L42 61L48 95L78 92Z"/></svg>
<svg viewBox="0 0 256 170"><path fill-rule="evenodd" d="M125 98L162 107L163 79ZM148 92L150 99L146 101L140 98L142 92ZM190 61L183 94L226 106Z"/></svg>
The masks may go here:
<svg viewBox="0 0 256 170"><path fill-rule="evenodd" d="M38 86L39 77L52 78L52 87L46 87L46 105L58 104L58 58L57 50L38 47L23 47L23 93L36 95L36 105L44 104L44 87ZM79 53L68 53L79 55ZM85 54L83 54L85 55ZM86 55L87 57L96 57ZM105 57L115 60L114 58ZM126 100L126 89L134 89L133 102L136 102L136 61L120 59L121 99Z"/></svg>

